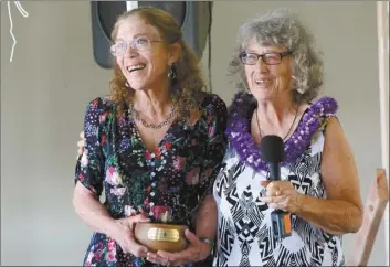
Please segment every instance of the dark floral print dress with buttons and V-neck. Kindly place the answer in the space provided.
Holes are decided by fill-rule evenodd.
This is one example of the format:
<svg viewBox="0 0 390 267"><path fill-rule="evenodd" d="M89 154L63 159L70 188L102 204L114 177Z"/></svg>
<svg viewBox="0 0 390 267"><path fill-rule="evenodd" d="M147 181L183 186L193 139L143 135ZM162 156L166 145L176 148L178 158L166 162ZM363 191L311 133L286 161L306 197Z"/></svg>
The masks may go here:
<svg viewBox="0 0 390 267"><path fill-rule="evenodd" d="M114 218L139 213L155 221L170 214L182 221L211 193L223 160L226 106L204 93L202 114L194 125L173 121L155 151L146 149L127 111L118 118L108 97L92 100L85 114L85 148L75 181L101 196ZM193 225L190 225L193 229ZM94 233L84 266L156 266L125 254L103 233Z"/></svg>

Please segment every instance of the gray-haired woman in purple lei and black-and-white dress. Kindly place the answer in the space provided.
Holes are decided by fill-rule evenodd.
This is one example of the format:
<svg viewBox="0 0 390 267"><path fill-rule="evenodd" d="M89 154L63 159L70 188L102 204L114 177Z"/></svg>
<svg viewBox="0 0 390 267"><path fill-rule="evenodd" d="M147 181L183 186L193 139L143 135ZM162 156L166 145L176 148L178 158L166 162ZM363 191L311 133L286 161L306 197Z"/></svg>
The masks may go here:
<svg viewBox="0 0 390 267"><path fill-rule="evenodd" d="M214 265L344 266L341 237L360 228L362 203L337 103L314 102L323 62L313 36L286 10L251 20L239 30L230 74L239 93L213 188ZM270 181L260 151L270 135L283 139L280 181ZM285 236L275 233L274 211L287 214Z"/></svg>

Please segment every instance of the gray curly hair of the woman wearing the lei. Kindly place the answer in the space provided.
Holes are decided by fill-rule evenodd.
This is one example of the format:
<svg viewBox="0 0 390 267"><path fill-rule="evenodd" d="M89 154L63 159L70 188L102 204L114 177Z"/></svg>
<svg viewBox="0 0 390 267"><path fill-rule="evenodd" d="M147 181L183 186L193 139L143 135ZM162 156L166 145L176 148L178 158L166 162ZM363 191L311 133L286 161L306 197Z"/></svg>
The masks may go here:
<svg viewBox="0 0 390 267"><path fill-rule="evenodd" d="M313 35L287 9L277 9L240 26L234 53L229 63L229 76L240 90L247 90L244 65L240 54L252 40L260 45L283 45L292 54L294 76L293 99L296 103L310 102L317 97L323 85L323 60Z"/></svg>

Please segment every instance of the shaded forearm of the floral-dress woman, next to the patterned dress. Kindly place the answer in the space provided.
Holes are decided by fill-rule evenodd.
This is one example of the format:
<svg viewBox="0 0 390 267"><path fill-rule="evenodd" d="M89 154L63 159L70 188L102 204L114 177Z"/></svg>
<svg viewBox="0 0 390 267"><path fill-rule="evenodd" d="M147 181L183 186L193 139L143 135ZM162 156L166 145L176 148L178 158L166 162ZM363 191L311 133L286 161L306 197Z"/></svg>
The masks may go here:
<svg viewBox="0 0 390 267"><path fill-rule="evenodd" d="M215 238L217 235L217 204L209 194L199 207L196 217L196 234L198 237Z"/></svg>

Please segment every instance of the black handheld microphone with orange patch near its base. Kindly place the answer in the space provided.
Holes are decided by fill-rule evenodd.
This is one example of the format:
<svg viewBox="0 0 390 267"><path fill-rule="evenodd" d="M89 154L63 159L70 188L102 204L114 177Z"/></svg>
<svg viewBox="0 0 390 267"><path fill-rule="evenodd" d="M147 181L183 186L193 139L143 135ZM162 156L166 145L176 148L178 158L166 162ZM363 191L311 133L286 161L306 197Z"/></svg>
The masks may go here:
<svg viewBox="0 0 390 267"><path fill-rule="evenodd" d="M262 158L268 163L270 179L281 180L280 162L284 158L283 140L278 136L265 136L260 142ZM291 214L281 210L271 213L272 228L277 239L283 239L292 235Z"/></svg>

